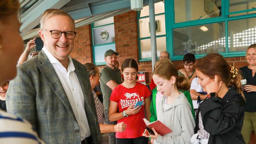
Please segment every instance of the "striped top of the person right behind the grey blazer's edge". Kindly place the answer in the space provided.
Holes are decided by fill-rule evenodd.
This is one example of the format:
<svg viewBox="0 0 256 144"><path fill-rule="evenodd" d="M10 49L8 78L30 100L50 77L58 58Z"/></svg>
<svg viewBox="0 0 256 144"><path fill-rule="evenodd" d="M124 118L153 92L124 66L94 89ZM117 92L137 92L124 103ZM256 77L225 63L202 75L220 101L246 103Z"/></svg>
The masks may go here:
<svg viewBox="0 0 256 144"><path fill-rule="evenodd" d="M104 107L103 107L103 104L98 99L98 96L96 95L94 90L93 90L93 98L95 101L96 112L97 112L97 116L98 116L98 123L104 124L104 122L103 122Z"/></svg>

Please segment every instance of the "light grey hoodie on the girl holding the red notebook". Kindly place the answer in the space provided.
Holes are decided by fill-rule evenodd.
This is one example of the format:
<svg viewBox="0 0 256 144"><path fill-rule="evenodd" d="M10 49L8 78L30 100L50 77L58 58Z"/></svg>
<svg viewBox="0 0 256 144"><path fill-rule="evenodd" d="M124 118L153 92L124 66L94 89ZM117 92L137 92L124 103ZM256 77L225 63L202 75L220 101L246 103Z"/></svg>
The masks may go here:
<svg viewBox="0 0 256 144"><path fill-rule="evenodd" d="M167 97L163 96L158 104L157 118L173 132L159 136L154 140L154 144L190 144L190 138L194 134L195 120L187 98L181 93L172 104L165 104L166 99Z"/></svg>

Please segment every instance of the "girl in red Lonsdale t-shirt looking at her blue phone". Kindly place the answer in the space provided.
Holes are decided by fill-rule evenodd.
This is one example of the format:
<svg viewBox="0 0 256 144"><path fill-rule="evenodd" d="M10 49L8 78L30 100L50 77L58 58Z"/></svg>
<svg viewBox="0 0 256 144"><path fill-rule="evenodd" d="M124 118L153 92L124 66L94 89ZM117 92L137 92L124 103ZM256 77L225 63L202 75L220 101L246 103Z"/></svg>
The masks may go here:
<svg viewBox="0 0 256 144"><path fill-rule="evenodd" d="M142 133L145 113L147 120L150 119L151 92L147 86L136 81L138 64L134 59L124 60L121 71L124 82L113 89L109 106L109 120L127 124L123 132L116 132L117 144L148 144L148 138ZM143 101L143 105L134 107L137 101Z"/></svg>

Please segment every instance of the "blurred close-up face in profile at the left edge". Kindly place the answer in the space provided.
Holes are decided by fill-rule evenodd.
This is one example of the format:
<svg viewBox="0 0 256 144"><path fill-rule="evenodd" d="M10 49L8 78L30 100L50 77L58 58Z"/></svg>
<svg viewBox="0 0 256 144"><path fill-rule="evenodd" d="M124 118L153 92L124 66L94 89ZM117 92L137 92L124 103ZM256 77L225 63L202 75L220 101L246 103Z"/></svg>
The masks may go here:
<svg viewBox="0 0 256 144"><path fill-rule="evenodd" d="M19 28L16 14L0 21L0 83L15 78L17 74L17 62L23 51Z"/></svg>

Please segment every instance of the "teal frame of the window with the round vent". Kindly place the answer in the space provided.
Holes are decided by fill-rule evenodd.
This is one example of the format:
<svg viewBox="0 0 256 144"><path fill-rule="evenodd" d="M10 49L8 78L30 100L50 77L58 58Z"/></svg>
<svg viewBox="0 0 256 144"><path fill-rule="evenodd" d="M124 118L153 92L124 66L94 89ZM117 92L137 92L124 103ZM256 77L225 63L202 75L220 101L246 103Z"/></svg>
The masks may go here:
<svg viewBox="0 0 256 144"><path fill-rule="evenodd" d="M109 26L109 25L112 25L112 24L114 24L114 23L104 24L104 25L95 26L95 27L94 27L94 23L91 24L92 47L93 47L93 63L94 63L96 66L98 66L98 65L106 65L107 63L106 63L106 62L95 63L95 52L94 52L95 47L96 47L96 46L109 45L109 44L115 44L115 42L109 42L109 43L106 43L106 44L97 44L97 45L94 45L93 29L95 29L95 28L100 28L100 27L104 27L104 26Z"/></svg>

